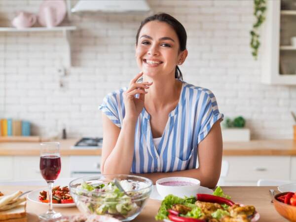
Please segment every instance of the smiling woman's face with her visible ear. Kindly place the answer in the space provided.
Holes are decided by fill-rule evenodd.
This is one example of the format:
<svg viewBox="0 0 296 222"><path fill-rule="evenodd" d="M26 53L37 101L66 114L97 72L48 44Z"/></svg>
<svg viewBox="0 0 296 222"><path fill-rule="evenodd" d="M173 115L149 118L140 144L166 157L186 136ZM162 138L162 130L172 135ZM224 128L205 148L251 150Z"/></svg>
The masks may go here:
<svg viewBox="0 0 296 222"><path fill-rule="evenodd" d="M170 25L151 21L143 26L136 46L136 61L145 75L175 76L176 66L184 62L183 54L187 53L186 50L179 52L179 39Z"/></svg>

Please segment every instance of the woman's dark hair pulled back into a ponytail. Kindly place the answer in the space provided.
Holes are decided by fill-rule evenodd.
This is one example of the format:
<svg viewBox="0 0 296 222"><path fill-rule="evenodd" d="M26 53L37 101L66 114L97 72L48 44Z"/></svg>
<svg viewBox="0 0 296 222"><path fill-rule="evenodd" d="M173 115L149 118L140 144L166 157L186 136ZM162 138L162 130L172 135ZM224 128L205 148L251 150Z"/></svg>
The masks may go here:
<svg viewBox="0 0 296 222"><path fill-rule="evenodd" d="M187 41L187 35L184 26L173 16L166 14L166 13L157 13L154 15L151 15L147 17L144 21L141 22L141 25L138 29L137 36L136 36L136 45L138 45L138 38L139 34L141 32L141 29L143 26L151 21L159 21L159 22L165 22L169 24L176 32L179 42L180 42L180 51L184 51L186 49L186 41ZM182 79L183 80L183 75L181 73L181 70L179 69L178 66L176 66L175 70L175 78Z"/></svg>

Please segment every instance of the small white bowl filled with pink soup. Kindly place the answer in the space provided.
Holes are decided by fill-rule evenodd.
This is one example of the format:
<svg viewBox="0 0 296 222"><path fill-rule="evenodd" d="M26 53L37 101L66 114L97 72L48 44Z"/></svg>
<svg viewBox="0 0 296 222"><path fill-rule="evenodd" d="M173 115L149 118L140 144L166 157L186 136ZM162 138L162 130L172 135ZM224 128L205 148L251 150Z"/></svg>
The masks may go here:
<svg viewBox="0 0 296 222"><path fill-rule="evenodd" d="M189 182L194 185L161 185L161 183L165 182ZM156 181L157 192L162 198L169 194L174 194L175 196L179 196L181 198L184 198L184 196L195 196L196 193L198 193L199 188L200 181L189 177L165 177Z"/></svg>

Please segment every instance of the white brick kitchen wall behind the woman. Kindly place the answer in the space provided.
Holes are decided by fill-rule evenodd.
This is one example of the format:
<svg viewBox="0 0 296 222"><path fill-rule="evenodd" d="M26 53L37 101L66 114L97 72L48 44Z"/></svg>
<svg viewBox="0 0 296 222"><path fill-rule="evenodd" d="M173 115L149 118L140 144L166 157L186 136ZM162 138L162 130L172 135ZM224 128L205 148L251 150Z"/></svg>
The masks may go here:
<svg viewBox="0 0 296 222"><path fill-rule="evenodd" d="M37 13L39 0L0 0L0 26L19 10ZM243 115L252 139L292 138L296 87L260 83L260 58L249 47L252 0L148 0L154 12L182 22L189 51L181 67L185 81L211 89L225 116ZM101 136L103 97L126 86L139 72L135 35L148 14L73 15L73 67L64 76L65 39L59 32L0 33L0 117L33 123L33 133ZM68 24L66 21L64 24Z"/></svg>

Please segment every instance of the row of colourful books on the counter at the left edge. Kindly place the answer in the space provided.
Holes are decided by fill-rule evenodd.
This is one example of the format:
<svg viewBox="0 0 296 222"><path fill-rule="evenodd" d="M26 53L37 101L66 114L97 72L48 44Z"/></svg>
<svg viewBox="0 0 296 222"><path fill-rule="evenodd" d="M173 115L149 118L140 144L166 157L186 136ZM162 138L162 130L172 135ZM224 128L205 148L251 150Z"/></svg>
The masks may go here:
<svg viewBox="0 0 296 222"><path fill-rule="evenodd" d="M31 123L17 119L0 120L0 136L30 136Z"/></svg>

